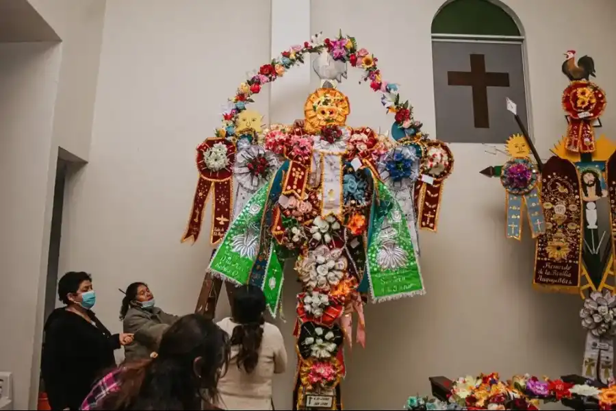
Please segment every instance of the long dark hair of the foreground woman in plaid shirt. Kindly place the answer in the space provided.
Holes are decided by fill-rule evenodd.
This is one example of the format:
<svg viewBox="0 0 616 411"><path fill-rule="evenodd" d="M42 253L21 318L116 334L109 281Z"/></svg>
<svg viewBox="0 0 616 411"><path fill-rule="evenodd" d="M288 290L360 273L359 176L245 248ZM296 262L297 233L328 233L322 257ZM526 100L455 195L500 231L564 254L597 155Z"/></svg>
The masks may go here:
<svg viewBox="0 0 616 411"><path fill-rule="evenodd" d="M198 314L183 316L164 332L157 358L126 364L119 390L97 408L201 410L201 400L211 405L218 397L218 379L228 364L227 333Z"/></svg>

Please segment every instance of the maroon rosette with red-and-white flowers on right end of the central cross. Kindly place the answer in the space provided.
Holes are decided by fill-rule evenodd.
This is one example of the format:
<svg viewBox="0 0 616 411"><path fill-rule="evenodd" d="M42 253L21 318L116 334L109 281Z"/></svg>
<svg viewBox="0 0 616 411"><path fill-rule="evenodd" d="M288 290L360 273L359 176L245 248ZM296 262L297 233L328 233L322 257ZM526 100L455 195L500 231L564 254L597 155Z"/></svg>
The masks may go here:
<svg viewBox="0 0 616 411"><path fill-rule="evenodd" d="M441 192L445 179L453 169L453 154L444 142L422 142L425 154L422 157L422 176L415 184L415 204L418 208L420 228L435 232L441 208Z"/></svg>

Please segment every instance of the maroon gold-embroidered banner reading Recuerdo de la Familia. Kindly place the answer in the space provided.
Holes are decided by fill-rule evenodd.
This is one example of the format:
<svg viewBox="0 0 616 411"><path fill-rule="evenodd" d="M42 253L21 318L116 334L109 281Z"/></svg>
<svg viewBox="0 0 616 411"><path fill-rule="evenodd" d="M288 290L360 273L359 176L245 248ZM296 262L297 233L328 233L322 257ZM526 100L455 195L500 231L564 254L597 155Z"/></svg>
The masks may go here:
<svg viewBox="0 0 616 411"><path fill-rule="evenodd" d="M576 166L552 157L543 165L541 197L546 235L537 239L533 284L578 292L582 256L582 201Z"/></svg>

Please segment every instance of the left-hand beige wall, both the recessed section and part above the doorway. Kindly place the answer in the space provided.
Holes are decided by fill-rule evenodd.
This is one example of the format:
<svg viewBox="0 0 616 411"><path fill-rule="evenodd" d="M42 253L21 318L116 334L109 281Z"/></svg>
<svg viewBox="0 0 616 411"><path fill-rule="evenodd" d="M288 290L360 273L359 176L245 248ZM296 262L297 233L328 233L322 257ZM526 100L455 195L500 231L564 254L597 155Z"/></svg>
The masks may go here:
<svg viewBox="0 0 616 411"><path fill-rule="evenodd" d="M0 45L0 369L14 373L21 409L36 406L38 393L58 147L88 158L105 6L30 3L62 43Z"/></svg>

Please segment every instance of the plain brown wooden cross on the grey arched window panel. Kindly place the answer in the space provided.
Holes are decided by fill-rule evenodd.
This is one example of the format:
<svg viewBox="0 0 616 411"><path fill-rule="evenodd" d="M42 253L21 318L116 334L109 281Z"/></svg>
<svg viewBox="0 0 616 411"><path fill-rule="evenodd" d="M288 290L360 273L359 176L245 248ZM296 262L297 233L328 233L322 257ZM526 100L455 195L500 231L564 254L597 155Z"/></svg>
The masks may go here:
<svg viewBox="0 0 616 411"><path fill-rule="evenodd" d="M449 86L470 86L473 89L475 128L490 128L487 104L488 87L509 87L509 73L486 73L485 55L471 54L471 71L448 71Z"/></svg>

